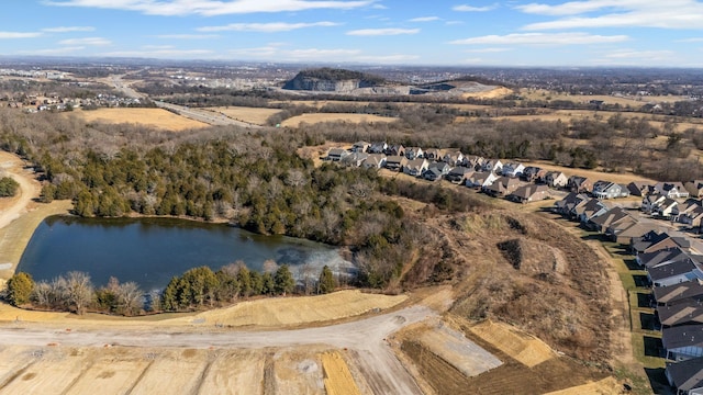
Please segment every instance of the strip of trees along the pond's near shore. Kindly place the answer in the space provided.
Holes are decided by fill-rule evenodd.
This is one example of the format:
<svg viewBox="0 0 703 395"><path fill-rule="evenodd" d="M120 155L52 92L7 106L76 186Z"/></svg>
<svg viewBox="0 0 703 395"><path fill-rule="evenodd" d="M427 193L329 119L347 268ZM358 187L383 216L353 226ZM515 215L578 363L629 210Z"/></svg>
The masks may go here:
<svg viewBox="0 0 703 395"><path fill-rule="evenodd" d="M148 294L135 282L120 283L115 278L110 278L105 286L96 287L90 275L83 272L72 271L52 281L40 282L34 282L27 273L19 272L8 281L3 296L18 307L134 316L147 312L223 306L257 295L324 294L333 292L336 286L337 280L327 266L320 271L312 290L308 290L297 286L287 264L276 267L274 263L272 271L259 273L238 262L216 272L209 267L190 269L180 276L174 276L163 292Z"/></svg>

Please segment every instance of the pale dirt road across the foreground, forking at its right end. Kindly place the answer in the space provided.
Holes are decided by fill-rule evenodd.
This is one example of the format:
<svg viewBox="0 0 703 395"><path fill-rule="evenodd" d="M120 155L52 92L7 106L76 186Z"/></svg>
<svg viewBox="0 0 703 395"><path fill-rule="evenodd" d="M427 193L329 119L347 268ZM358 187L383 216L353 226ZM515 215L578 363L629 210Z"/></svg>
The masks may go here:
<svg viewBox="0 0 703 395"><path fill-rule="evenodd" d="M386 339L408 325L435 318L438 316L431 308L416 305L354 323L275 331L234 331L221 328L213 328L211 331L205 328L200 331L183 331L182 327L172 331L166 328L163 331L155 331L154 328L121 330L110 328L109 325L101 330L72 328L67 331L8 323L0 327L0 345L94 348L110 345L192 349L264 349L323 345L356 351L360 357L361 369L375 373L375 377L368 379L372 388L393 394L422 394Z"/></svg>

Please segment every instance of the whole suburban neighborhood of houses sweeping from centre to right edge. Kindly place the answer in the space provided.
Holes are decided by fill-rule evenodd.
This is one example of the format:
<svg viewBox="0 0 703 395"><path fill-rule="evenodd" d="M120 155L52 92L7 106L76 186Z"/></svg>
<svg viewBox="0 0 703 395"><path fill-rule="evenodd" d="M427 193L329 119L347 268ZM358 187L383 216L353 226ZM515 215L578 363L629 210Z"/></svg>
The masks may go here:
<svg viewBox="0 0 703 395"><path fill-rule="evenodd" d="M646 270L667 380L677 394L703 394L703 180L621 184L454 149L366 142L332 148L322 159L444 179L521 204L554 199L554 213L622 245ZM629 199L618 204L623 198Z"/></svg>

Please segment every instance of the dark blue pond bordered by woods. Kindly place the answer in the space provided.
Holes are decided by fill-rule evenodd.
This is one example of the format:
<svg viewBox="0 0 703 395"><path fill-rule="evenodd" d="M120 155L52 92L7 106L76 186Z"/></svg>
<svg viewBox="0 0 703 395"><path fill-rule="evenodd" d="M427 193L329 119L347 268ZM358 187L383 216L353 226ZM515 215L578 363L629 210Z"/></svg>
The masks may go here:
<svg viewBox="0 0 703 395"><path fill-rule="evenodd" d="M209 266L217 270L242 260L263 271L266 260L287 263L293 275L302 268L316 278L323 266L337 272L354 267L331 246L283 236L263 236L225 224L175 218L78 218L53 216L34 232L18 272L35 281L69 271L90 274L93 285L134 281L142 290L163 289L174 275Z"/></svg>

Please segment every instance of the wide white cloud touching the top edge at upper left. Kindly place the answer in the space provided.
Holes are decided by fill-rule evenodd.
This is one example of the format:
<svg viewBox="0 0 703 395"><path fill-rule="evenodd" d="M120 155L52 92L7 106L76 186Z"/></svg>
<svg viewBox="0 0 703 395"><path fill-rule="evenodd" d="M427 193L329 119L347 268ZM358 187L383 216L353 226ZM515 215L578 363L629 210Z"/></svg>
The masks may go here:
<svg viewBox="0 0 703 395"><path fill-rule="evenodd" d="M320 9L349 10L376 0L44 0L57 7L137 11L149 15L226 15L256 12L295 12Z"/></svg>

